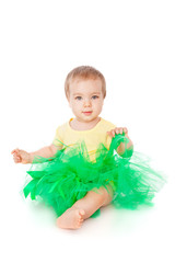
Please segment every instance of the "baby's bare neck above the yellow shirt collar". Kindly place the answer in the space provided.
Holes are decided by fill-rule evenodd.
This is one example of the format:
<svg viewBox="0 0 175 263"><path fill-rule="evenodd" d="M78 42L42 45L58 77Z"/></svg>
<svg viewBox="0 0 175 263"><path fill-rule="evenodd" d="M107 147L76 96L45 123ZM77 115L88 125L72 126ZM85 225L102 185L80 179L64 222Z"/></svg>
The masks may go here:
<svg viewBox="0 0 175 263"><path fill-rule="evenodd" d="M91 122L81 122L78 118L73 118L70 122L70 126L75 130L88 130L88 129L94 128L100 121L101 121L101 117L96 117Z"/></svg>

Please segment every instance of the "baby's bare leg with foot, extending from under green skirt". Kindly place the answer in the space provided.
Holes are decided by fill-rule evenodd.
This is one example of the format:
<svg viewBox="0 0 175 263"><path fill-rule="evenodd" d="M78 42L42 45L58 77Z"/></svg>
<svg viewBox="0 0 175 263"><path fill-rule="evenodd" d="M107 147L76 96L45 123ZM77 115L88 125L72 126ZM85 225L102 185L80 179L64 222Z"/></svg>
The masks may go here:
<svg viewBox="0 0 175 263"><path fill-rule="evenodd" d="M108 185L106 188L101 187L90 191L82 199L77 201L73 206L67 209L57 219L60 228L77 229L80 228L83 220L92 216L100 207L106 206L112 202L113 190Z"/></svg>

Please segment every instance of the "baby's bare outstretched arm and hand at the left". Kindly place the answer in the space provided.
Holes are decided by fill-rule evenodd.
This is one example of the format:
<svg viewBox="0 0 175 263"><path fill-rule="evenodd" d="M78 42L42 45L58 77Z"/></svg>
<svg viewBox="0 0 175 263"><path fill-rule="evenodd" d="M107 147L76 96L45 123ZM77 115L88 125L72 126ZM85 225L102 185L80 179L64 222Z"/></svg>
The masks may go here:
<svg viewBox="0 0 175 263"><path fill-rule="evenodd" d="M11 153L13 155L13 160L15 163L32 163L36 156L44 158L51 158L56 155L61 147L56 147L55 145L46 146L37 151L27 152L20 149L14 149Z"/></svg>

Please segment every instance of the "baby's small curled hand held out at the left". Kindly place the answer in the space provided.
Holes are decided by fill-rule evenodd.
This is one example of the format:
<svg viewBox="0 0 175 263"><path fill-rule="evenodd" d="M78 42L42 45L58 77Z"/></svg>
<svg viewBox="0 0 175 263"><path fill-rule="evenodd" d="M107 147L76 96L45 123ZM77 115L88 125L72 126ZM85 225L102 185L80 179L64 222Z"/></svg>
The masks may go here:
<svg viewBox="0 0 175 263"><path fill-rule="evenodd" d="M13 155L13 160L15 163L31 163L32 162L32 156L31 153L20 150L20 149L14 149L11 155Z"/></svg>

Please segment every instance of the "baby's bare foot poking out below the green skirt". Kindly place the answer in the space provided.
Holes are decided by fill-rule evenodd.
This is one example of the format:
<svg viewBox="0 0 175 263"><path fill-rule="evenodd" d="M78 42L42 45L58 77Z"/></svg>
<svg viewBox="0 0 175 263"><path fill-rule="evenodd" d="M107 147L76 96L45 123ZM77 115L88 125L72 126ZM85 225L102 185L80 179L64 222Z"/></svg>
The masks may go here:
<svg viewBox="0 0 175 263"><path fill-rule="evenodd" d="M85 211L78 208L69 208L57 219L57 226L67 229L78 229L84 221Z"/></svg>

